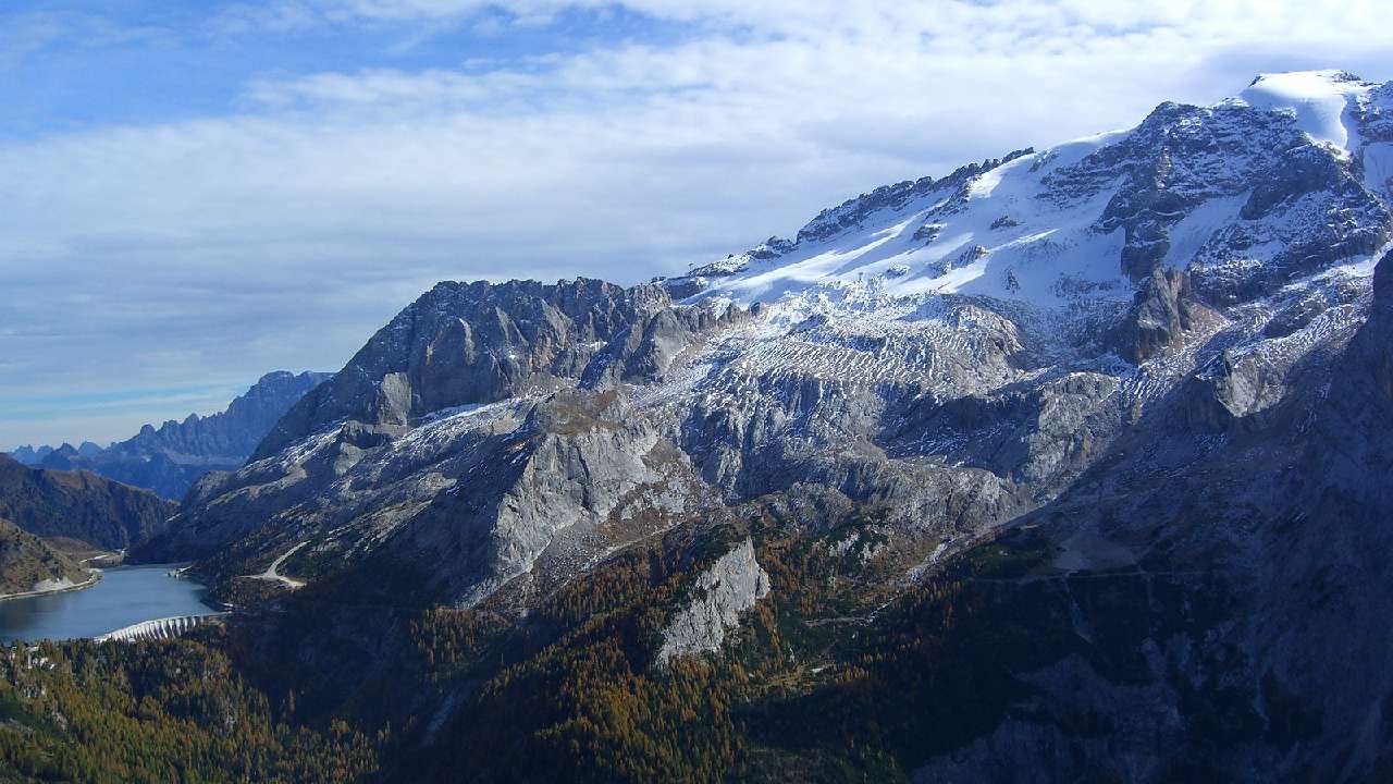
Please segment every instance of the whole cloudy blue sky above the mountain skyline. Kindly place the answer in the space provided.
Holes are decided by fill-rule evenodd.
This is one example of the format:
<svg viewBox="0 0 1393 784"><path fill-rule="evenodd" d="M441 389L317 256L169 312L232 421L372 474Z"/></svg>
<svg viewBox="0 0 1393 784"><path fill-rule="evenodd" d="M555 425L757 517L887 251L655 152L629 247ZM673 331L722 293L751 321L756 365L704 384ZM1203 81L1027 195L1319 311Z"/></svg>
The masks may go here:
<svg viewBox="0 0 1393 784"><path fill-rule="evenodd" d="M1258 73L1389 80L1386 6L4 0L0 448L337 370L437 280L635 283Z"/></svg>

